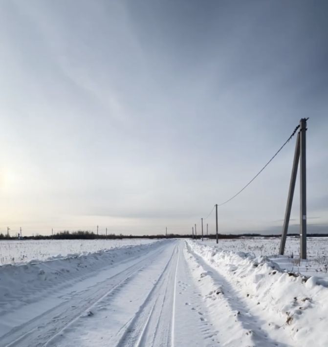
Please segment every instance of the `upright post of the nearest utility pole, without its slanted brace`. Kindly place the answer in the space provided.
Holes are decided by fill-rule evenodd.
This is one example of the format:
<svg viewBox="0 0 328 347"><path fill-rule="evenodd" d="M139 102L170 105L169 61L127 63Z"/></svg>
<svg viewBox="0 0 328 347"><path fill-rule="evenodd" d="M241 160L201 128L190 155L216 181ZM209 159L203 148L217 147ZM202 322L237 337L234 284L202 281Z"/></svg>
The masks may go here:
<svg viewBox="0 0 328 347"><path fill-rule="evenodd" d="M300 198L301 198L301 258L306 259L306 118L300 121Z"/></svg>

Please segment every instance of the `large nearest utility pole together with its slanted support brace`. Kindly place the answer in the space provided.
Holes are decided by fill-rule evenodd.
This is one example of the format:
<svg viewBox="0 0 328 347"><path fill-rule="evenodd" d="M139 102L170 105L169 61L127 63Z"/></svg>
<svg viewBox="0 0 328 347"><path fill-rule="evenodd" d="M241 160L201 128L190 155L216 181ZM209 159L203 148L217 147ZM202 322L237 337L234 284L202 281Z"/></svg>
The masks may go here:
<svg viewBox="0 0 328 347"><path fill-rule="evenodd" d="M306 259L306 121L300 120L300 131L297 134L293 160L293 168L290 177L287 205L284 215L283 233L280 243L279 254L284 254L287 238L288 224L293 203L298 163L300 162L300 258Z"/></svg>

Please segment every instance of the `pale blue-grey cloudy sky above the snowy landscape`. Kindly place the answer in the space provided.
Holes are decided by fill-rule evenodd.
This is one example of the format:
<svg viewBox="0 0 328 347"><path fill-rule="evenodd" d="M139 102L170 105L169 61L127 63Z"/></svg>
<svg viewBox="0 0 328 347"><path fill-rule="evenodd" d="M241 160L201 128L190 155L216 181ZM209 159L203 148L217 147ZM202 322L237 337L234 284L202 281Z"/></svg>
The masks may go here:
<svg viewBox="0 0 328 347"><path fill-rule="evenodd" d="M327 11L0 1L0 233L215 232L214 204L307 117L308 232L328 232ZM219 207L220 233L281 231L295 140Z"/></svg>

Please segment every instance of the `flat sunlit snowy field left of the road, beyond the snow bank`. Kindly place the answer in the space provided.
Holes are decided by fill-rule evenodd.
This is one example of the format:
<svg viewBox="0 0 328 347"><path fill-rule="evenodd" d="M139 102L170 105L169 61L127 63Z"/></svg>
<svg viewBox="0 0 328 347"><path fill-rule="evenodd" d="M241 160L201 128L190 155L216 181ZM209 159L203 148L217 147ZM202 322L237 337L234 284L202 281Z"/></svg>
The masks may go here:
<svg viewBox="0 0 328 347"><path fill-rule="evenodd" d="M0 265L88 254L153 241L153 239L3 240L0 241Z"/></svg>

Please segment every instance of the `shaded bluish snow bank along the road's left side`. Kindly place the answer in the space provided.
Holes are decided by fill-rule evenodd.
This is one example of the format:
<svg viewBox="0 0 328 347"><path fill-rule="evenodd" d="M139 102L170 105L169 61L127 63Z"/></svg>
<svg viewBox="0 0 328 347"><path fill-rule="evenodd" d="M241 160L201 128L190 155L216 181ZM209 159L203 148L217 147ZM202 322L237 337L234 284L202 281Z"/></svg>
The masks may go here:
<svg viewBox="0 0 328 347"><path fill-rule="evenodd" d="M98 251L87 255L75 254L25 264L0 266L0 317L30 304L50 293L89 277L109 264L138 257L145 251L156 249L162 240L145 245Z"/></svg>

